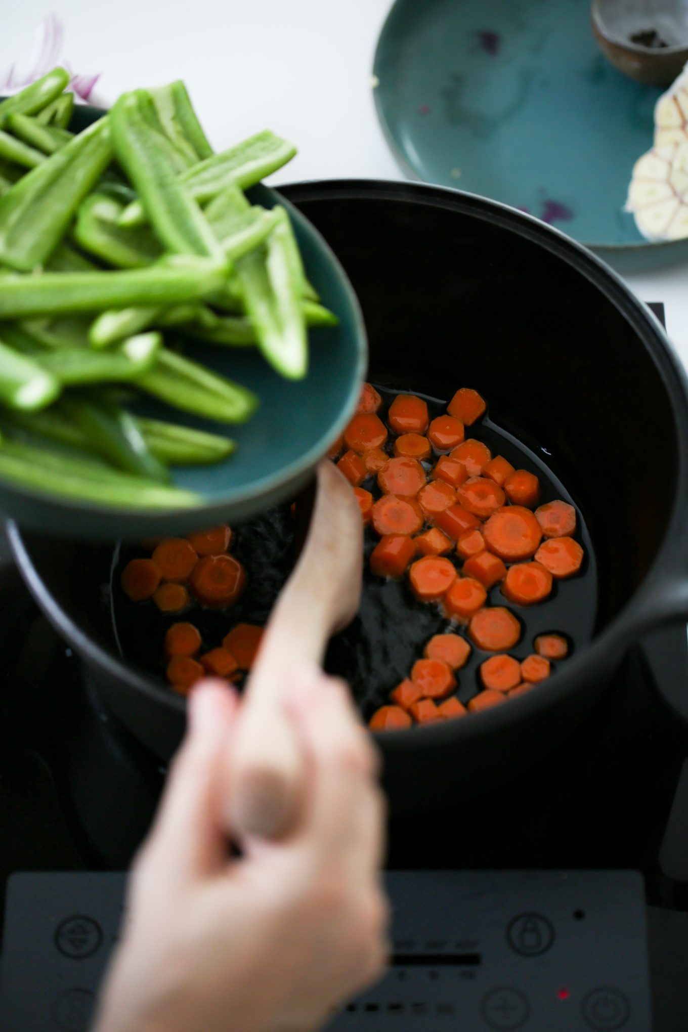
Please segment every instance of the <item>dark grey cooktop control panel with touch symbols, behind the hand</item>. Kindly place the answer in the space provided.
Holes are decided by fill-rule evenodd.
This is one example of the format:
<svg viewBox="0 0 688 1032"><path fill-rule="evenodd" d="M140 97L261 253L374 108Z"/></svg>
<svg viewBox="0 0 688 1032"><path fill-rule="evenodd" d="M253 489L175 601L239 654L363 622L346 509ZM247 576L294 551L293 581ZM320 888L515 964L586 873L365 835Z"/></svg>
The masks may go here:
<svg viewBox="0 0 688 1032"><path fill-rule="evenodd" d="M330 1032L651 1032L643 880L632 871L388 874L393 956ZM2 1032L87 1032L125 876L15 874Z"/></svg>

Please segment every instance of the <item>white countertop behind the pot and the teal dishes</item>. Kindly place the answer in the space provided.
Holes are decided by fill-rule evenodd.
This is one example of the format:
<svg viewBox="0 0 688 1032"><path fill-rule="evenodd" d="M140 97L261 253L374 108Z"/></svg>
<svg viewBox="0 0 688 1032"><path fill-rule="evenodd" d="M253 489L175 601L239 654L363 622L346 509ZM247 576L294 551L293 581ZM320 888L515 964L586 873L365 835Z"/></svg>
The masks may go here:
<svg viewBox="0 0 688 1032"><path fill-rule="evenodd" d="M422 0L418 0L419 3ZM3 12L0 74L26 71L41 21L64 25L62 59L102 72L94 98L183 78L216 147L258 129L295 140L297 158L272 182L389 179L370 85L390 0L24 0ZM688 262L626 278L666 305L668 333L688 366Z"/></svg>

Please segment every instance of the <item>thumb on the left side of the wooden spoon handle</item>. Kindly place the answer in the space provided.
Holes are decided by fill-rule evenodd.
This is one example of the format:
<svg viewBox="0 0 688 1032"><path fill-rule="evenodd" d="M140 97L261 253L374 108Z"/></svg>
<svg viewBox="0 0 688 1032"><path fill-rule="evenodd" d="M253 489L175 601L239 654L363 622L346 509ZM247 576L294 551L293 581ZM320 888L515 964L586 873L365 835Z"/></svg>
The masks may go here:
<svg viewBox="0 0 688 1032"><path fill-rule="evenodd" d="M164 880L166 888L207 877L227 862L217 796L236 711L236 692L219 679L200 681L189 697L187 734L140 861L155 869L156 880Z"/></svg>

